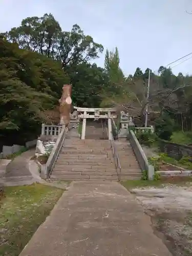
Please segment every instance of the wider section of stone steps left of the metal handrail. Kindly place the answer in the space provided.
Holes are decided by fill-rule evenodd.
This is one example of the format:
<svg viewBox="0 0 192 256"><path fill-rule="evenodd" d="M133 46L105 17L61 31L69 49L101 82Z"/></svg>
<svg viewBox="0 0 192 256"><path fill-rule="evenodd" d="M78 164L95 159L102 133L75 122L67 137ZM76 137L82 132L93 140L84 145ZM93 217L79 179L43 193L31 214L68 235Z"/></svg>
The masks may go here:
<svg viewBox="0 0 192 256"><path fill-rule="evenodd" d="M110 141L66 139L51 178L118 180Z"/></svg>

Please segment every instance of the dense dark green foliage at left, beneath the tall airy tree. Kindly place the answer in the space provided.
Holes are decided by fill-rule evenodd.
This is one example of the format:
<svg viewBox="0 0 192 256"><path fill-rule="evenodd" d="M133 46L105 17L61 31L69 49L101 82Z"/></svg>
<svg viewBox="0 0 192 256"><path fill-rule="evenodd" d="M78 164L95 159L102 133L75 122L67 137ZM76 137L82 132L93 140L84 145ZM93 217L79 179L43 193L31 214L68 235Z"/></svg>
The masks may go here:
<svg viewBox="0 0 192 256"><path fill-rule="evenodd" d="M44 112L58 102L63 81L69 78L59 62L0 38L1 135L20 134L23 141L32 131L37 135Z"/></svg>

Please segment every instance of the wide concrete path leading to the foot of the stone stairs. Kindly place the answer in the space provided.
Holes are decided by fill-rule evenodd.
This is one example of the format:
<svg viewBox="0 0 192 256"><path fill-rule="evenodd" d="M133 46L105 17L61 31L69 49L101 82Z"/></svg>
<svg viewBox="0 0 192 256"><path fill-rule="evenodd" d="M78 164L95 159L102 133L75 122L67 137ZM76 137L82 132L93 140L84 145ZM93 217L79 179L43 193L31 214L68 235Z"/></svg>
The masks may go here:
<svg viewBox="0 0 192 256"><path fill-rule="evenodd" d="M170 256L150 217L116 182L74 182L20 256Z"/></svg>

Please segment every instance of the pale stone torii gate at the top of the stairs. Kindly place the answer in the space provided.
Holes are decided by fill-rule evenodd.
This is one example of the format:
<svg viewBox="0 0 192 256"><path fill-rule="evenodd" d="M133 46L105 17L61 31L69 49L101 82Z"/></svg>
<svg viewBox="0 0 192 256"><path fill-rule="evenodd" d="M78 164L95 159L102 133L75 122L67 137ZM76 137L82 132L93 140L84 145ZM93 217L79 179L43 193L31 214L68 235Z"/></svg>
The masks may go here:
<svg viewBox="0 0 192 256"><path fill-rule="evenodd" d="M87 118L94 120L108 119L108 135L109 140L112 140L112 118L117 118L116 109L113 108L78 108L74 106L74 110L77 111L77 118L82 119L82 131L81 139L86 138L86 121Z"/></svg>

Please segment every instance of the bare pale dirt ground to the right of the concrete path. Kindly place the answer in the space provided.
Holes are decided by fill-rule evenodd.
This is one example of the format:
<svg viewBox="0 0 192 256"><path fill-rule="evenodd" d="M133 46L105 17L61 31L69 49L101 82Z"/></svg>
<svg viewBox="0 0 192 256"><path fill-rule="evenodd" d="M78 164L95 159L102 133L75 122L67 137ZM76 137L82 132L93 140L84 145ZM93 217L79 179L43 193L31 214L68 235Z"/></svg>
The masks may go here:
<svg viewBox="0 0 192 256"><path fill-rule="evenodd" d="M134 188L132 192L173 256L192 255L192 187L166 185Z"/></svg>

